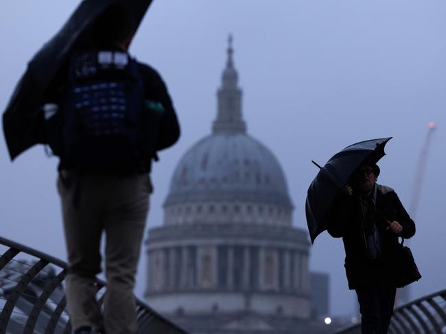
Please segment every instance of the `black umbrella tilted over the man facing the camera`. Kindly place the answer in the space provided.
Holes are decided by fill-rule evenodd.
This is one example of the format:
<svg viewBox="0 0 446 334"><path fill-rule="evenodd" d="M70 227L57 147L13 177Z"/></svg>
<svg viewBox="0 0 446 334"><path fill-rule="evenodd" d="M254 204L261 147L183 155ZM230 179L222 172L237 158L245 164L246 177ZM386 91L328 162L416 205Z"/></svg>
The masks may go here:
<svg viewBox="0 0 446 334"><path fill-rule="evenodd" d="M347 184L347 180L365 160L370 163L385 156L384 146L392 137L361 141L347 146L320 167L318 175L310 184L305 202L305 213L309 236L314 239L327 229L326 215L333 198L339 189Z"/></svg>

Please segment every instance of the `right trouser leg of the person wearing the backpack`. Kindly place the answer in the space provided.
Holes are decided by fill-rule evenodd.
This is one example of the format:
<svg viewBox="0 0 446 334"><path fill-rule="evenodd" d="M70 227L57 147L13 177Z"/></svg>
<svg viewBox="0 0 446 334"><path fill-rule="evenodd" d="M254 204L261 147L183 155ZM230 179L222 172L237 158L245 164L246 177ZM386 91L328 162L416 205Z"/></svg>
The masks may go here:
<svg viewBox="0 0 446 334"><path fill-rule="evenodd" d="M107 291L104 300L106 333L137 332L134 276L152 191L147 175L120 178L110 194L106 230Z"/></svg>

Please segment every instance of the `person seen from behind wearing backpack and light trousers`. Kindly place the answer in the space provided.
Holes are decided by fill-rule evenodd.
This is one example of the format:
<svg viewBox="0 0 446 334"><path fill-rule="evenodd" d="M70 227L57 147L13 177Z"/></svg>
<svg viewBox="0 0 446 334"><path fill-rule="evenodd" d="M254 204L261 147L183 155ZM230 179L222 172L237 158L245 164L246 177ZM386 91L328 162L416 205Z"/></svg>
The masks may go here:
<svg viewBox="0 0 446 334"><path fill-rule="evenodd" d="M136 333L132 290L152 193L151 162L180 134L163 80L127 52L135 28L124 8L107 10L95 23L92 47L73 54L44 106L47 141L60 157L74 333ZM95 299L103 232L104 313Z"/></svg>

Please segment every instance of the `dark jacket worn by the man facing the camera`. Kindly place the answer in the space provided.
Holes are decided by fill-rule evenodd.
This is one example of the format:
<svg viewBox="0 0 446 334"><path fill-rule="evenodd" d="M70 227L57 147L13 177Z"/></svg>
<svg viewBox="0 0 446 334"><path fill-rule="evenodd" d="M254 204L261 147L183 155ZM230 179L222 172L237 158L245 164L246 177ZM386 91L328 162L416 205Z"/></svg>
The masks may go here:
<svg viewBox="0 0 446 334"><path fill-rule="evenodd" d="M390 187L375 184L377 187L376 207L388 221L397 221L403 227L401 237L408 239L415 234L415 224L410 219L397 193ZM332 237L342 237L345 248L345 271L349 289L381 281L395 284L395 250L398 237L386 230L388 223L375 215L377 232L382 241L378 259L370 259L367 252L362 205L354 195L338 194L328 219L328 232Z"/></svg>

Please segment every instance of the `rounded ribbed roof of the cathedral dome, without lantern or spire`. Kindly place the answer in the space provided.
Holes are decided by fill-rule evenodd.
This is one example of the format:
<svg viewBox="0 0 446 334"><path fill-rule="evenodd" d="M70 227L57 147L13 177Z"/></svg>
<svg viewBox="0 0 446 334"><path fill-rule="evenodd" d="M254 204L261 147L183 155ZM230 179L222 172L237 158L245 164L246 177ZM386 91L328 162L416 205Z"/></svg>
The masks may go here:
<svg viewBox="0 0 446 334"><path fill-rule="evenodd" d="M239 199L291 207L277 158L243 132L213 133L178 163L166 204Z"/></svg>

